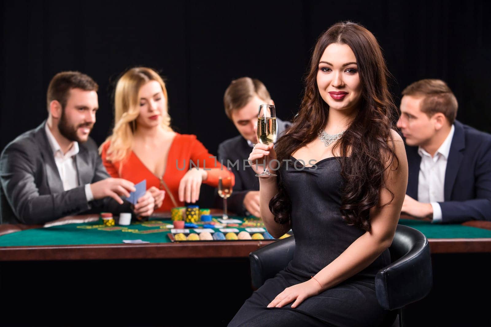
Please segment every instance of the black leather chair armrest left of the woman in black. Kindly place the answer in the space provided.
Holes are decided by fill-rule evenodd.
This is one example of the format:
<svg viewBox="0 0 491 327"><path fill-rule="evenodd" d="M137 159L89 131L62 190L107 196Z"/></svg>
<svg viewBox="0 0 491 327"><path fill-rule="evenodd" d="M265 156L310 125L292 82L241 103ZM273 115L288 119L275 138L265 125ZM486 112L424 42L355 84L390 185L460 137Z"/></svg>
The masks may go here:
<svg viewBox="0 0 491 327"><path fill-rule="evenodd" d="M295 236L268 244L249 254L252 286L259 288L293 259Z"/></svg>

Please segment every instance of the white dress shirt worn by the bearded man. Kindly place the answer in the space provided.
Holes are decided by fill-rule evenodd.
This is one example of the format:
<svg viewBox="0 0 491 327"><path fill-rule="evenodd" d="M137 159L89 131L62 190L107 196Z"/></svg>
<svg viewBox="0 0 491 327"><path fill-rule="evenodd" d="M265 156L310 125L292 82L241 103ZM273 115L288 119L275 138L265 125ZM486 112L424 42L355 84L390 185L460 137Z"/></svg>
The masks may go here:
<svg viewBox="0 0 491 327"><path fill-rule="evenodd" d="M63 183L63 190L68 191L79 186L79 178L77 167L75 165L74 157L79 153L79 143L73 142L72 147L66 153L61 151L61 147L55 139L55 136L51 133L48 124L45 126L46 135L48 136L48 143L55 157L56 167ZM88 201L94 200L90 184L85 185L85 198Z"/></svg>

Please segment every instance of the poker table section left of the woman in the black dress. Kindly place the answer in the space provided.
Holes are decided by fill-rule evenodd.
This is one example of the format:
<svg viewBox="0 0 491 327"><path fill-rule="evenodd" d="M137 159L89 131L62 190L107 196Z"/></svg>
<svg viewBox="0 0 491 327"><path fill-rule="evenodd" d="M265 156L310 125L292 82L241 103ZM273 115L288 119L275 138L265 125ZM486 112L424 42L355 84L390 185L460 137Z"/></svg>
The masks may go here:
<svg viewBox="0 0 491 327"><path fill-rule="evenodd" d="M29 228L0 236L0 261L246 258L250 252L274 242L274 240L172 242L168 236L171 228L167 228L172 224L170 218L151 217L148 222L133 222L130 226L116 224L113 227L101 225L96 215L72 218L65 220L63 224ZM217 218L218 216L214 219ZM70 224L74 219L82 219L84 223ZM264 227L257 219L233 216L230 219ZM66 224L67 222L69 224ZM231 228L246 230L242 225ZM123 243L123 240L136 239L150 243Z"/></svg>

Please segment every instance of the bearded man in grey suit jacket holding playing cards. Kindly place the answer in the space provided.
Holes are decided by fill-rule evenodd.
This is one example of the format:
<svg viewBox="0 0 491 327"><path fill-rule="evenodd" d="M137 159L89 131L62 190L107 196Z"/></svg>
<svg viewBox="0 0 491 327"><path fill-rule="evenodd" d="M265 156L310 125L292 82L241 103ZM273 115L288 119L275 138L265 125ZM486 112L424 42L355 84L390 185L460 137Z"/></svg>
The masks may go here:
<svg viewBox="0 0 491 327"><path fill-rule="evenodd" d="M79 72L53 77L47 93L48 119L1 153L2 223L44 224L97 209L131 212L120 196L129 197L135 191L133 183L109 178L89 137L99 107L97 89L92 78ZM150 215L153 208L147 192L135 205L135 213Z"/></svg>

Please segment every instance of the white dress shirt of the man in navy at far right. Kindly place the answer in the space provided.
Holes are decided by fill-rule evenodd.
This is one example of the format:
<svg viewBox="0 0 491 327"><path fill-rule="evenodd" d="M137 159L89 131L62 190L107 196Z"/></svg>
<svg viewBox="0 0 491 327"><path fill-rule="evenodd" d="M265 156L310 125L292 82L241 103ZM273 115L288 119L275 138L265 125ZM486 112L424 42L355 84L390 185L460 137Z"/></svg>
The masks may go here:
<svg viewBox="0 0 491 327"><path fill-rule="evenodd" d="M454 131L455 127L452 125L450 133L433 157L418 147L418 154L421 157L418 176L418 201L432 205L434 223L441 222L441 207L438 202L445 201L445 171Z"/></svg>

